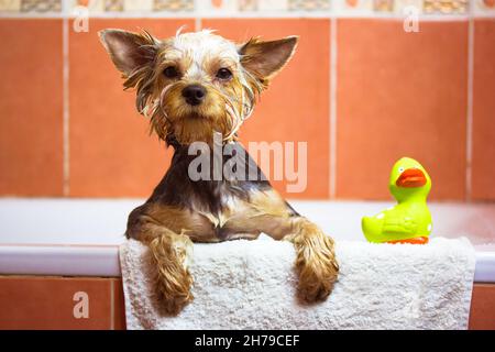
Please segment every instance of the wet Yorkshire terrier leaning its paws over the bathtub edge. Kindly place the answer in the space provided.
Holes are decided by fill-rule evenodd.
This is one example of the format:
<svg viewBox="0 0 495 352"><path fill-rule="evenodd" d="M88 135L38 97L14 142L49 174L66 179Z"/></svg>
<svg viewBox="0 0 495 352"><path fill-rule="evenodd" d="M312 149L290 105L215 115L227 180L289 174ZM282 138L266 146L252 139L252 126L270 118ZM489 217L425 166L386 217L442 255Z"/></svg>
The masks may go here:
<svg viewBox="0 0 495 352"><path fill-rule="evenodd" d="M152 196L130 213L125 232L148 246L165 311L176 315L193 300L193 242L256 239L262 232L294 243L298 296L307 302L326 299L339 272L333 240L297 213L251 157L244 172L254 169L256 179L191 179L188 174L195 158L189 146L213 146L218 133L222 146L240 152L222 156L221 166L245 153L238 130L293 56L298 37L254 37L238 45L206 30L179 31L166 40L145 31L99 35L124 88L135 88L136 108L150 118L151 131L175 151Z"/></svg>

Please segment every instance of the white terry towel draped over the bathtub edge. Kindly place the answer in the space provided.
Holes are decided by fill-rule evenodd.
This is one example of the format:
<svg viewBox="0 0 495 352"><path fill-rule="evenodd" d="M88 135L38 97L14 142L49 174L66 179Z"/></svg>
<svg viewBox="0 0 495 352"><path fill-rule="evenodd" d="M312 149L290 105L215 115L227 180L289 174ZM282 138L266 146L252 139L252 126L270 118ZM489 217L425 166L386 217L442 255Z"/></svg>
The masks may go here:
<svg viewBox="0 0 495 352"><path fill-rule="evenodd" d="M465 239L427 245L337 242L330 297L296 298L295 251L264 238L195 244L195 300L177 317L152 301L146 248L120 248L128 329L466 329L474 250Z"/></svg>

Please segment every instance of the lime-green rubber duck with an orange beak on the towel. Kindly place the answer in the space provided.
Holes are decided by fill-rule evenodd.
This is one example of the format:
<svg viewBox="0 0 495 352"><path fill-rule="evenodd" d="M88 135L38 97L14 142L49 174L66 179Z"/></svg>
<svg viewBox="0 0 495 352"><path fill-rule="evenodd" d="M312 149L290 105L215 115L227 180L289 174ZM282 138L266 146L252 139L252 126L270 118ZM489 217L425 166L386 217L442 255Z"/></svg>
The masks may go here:
<svg viewBox="0 0 495 352"><path fill-rule="evenodd" d="M427 197L431 178L417 161L403 157L395 163L388 188L397 200L395 207L361 221L364 237L374 243L428 243L431 213Z"/></svg>

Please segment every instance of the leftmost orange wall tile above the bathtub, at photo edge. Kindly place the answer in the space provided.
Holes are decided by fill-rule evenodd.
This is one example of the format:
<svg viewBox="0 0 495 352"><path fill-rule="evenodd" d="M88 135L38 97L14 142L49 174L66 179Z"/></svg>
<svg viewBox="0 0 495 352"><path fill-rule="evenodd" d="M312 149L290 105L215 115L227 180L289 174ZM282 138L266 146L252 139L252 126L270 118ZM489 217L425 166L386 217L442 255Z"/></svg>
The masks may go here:
<svg viewBox="0 0 495 352"><path fill-rule="evenodd" d="M59 20L1 20L0 194L63 195Z"/></svg>

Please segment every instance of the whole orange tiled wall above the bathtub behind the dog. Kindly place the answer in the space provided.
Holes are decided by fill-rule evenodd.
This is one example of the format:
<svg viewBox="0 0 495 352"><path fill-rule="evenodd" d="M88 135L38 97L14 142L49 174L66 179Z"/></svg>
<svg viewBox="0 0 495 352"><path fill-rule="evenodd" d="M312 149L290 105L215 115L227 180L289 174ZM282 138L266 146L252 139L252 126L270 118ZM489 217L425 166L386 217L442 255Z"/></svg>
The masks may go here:
<svg viewBox="0 0 495 352"><path fill-rule="evenodd" d="M89 33L62 19L1 19L0 196L148 196L172 153L148 136L97 31L164 37L183 24L193 30L195 19L95 19ZM474 20L471 36L465 20L421 22L419 33L385 19L201 26L238 41L300 35L241 130L243 142L308 142L308 187L286 194L275 183L285 196L388 199L389 168L409 155L429 169L432 199L495 200L495 19Z"/></svg>

